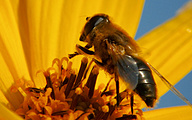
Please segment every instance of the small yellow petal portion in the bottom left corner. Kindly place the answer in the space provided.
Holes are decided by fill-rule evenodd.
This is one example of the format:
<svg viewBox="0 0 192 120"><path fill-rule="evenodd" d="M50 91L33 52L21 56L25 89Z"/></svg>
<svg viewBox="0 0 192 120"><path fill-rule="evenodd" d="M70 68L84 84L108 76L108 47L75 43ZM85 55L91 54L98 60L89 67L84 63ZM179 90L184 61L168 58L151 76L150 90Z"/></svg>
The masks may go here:
<svg viewBox="0 0 192 120"><path fill-rule="evenodd" d="M2 104L0 104L0 111L1 111L0 120L23 120L20 116L10 111Z"/></svg>

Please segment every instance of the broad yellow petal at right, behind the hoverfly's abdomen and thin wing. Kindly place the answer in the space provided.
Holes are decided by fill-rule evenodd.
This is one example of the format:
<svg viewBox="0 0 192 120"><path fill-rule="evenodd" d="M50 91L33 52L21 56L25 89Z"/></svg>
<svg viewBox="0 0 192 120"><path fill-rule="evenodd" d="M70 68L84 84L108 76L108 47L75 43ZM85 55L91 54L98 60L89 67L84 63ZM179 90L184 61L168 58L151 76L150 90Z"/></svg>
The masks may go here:
<svg viewBox="0 0 192 120"><path fill-rule="evenodd" d="M172 84L192 69L192 6L139 39L144 56ZM168 88L155 76L158 95Z"/></svg>

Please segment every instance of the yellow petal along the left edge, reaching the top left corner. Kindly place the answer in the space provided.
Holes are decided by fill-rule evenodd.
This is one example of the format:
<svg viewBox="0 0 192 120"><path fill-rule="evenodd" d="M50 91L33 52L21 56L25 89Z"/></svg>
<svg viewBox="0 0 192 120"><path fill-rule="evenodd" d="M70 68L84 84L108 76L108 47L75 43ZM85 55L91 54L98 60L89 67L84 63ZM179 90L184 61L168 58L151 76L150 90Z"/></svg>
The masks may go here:
<svg viewBox="0 0 192 120"><path fill-rule="evenodd" d="M0 52L15 79L24 77L29 79L28 68L25 61L19 29L8 1L0 5ZM22 71L22 72L21 72Z"/></svg>

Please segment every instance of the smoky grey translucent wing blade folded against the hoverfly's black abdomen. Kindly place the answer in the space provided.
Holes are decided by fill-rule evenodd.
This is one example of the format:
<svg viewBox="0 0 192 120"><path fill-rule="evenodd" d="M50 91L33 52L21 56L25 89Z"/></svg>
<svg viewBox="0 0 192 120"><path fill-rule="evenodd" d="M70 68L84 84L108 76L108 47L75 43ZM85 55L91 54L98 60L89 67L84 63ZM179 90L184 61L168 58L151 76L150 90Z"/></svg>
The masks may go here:
<svg viewBox="0 0 192 120"><path fill-rule="evenodd" d="M129 55L117 55L117 71L127 87L134 90L138 84L138 67L135 60Z"/></svg>

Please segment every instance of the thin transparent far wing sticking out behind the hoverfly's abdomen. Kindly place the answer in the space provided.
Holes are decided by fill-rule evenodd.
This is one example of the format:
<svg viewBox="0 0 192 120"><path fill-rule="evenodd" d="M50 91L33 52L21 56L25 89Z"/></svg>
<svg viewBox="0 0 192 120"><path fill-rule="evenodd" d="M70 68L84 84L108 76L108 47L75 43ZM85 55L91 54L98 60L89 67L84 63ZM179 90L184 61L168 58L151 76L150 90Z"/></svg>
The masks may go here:
<svg viewBox="0 0 192 120"><path fill-rule="evenodd" d="M192 107L192 104L183 96L165 77L163 77L151 64L147 63L150 68L161 78L161 80L167 85L167 87L175 94L177 95L181 100L183 100L185 103L187 103L190 107Z"/></svg>

